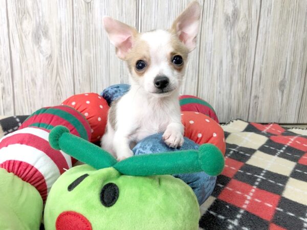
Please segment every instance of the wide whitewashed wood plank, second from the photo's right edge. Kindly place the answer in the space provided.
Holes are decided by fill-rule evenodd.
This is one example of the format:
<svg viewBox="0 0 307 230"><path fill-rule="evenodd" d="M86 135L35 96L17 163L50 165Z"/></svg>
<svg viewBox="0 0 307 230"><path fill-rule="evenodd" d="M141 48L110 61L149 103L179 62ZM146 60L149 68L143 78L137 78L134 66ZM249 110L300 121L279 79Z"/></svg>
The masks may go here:
<svg viewBox="0 0 307 230"><path fill-rule="evenodd" d="M260 0L205 1L198 96L221 122L247 120Z"/></svg>

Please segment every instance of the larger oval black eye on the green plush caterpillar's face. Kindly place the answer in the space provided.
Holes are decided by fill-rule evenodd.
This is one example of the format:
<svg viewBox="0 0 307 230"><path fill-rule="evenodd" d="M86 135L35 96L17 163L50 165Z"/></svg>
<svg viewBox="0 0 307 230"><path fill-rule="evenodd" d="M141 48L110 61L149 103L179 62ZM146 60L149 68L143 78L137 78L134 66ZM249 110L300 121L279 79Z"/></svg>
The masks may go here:
<svg viewBox="0 0 307 230"><path fill-rule="evenodd" d="M119 189L115 183L107 183L100 192L100 202L103 206L111 207L119 196Z"/></svg>

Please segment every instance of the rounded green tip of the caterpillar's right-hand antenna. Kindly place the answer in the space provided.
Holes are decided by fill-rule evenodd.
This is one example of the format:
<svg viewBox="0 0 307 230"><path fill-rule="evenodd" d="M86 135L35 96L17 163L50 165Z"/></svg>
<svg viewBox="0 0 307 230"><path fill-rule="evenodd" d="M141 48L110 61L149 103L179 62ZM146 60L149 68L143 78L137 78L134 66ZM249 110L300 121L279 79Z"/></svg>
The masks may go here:
<svg viewBox="0 0 307 230"><path fill-rule="evenodd" d="M220 149L212 144L203 144L199 148L201 168L210 176L220 174L225 166L225 159Z"/></svg>

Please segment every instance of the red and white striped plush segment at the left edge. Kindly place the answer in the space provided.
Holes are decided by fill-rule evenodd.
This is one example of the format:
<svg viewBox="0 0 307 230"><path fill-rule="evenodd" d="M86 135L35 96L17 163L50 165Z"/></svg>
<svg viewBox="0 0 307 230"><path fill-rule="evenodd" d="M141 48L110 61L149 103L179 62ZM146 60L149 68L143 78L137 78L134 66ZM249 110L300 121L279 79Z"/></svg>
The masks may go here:
<svg viewBox="0 0 307 230"><path fill-rule="evenodd" d="M0 167L31 183L45 200L54 181L72 167L71 157L50 147L49 131L17 130L0 141Z"/></svg>

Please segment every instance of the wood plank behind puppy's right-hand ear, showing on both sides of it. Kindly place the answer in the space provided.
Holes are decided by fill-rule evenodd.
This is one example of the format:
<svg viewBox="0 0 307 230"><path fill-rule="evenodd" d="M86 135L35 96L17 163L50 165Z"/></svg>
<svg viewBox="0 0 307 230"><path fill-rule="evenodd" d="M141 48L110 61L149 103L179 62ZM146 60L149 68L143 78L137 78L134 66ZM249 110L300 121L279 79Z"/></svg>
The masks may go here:
<svg viewBox="0 0 307 230"><path fill-rule="evenodd" d="M172 22L187 7L191 0L139 0L140 32L156 29L169 29ZM203 1L199 1L203 7ZM202 18L201 18L202 20ZM200 27L201 31L201 27ZM200 32L199 32L200 33ZM183 94L197 94L200 38L196 49L189 54L188 66L182 85Z"/></svg>

